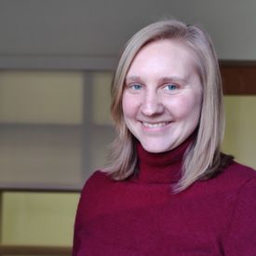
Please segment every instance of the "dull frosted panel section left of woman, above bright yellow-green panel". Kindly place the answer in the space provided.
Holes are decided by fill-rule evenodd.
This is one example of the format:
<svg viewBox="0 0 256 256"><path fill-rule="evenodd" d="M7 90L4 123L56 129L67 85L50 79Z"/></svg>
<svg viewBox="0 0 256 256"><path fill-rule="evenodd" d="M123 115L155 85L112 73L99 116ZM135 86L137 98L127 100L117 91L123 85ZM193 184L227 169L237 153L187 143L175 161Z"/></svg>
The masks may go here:
<svg viewBox="0 0 256 256"><path fill-rule="evenodd" d="M111 73L0 72L0 187L80 189L114 138Z"/></svg>

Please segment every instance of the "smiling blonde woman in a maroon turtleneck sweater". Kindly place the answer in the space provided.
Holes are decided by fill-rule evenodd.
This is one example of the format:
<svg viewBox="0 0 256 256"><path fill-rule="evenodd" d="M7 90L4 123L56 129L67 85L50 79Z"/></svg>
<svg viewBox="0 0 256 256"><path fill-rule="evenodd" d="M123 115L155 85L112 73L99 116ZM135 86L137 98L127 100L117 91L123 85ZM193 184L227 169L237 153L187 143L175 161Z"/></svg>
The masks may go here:
<svg viewBox="0 0 256 256"><path fill-rule="evenodd" d="M83 189L73 255L256 255L256 173L220 152L208 34L177 20L143 28L112 97L118 135L109 167Z"/></svg>

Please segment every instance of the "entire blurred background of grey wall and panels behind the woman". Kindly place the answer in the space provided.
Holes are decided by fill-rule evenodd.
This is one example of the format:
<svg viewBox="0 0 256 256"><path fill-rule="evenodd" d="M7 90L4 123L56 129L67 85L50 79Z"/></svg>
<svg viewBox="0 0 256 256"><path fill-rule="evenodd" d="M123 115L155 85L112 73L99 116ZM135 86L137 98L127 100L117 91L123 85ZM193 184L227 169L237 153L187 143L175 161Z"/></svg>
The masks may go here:
<svg viewBox="0 0 256 256"><path fill-rule="evenodd" d="M254 0L0 0L0 255L70 255L79 192L115 136L118 56L155 20L209 32L224 82L222 149L256 168L255 12Z"/></svg>

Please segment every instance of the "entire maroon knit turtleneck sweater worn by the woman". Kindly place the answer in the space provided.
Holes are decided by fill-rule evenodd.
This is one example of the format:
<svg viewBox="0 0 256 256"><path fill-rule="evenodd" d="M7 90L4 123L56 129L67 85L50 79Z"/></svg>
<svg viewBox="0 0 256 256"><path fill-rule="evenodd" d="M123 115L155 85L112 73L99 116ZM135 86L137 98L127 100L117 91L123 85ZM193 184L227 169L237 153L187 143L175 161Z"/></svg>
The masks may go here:
<svg viewBox="0 0 256 256"><path fill-rule="evenodd" d="M96 171L78 205L73 256L255 256L256 172L234 162L172 194L186 147L151 154L139 144L129 181Z"/></svg>

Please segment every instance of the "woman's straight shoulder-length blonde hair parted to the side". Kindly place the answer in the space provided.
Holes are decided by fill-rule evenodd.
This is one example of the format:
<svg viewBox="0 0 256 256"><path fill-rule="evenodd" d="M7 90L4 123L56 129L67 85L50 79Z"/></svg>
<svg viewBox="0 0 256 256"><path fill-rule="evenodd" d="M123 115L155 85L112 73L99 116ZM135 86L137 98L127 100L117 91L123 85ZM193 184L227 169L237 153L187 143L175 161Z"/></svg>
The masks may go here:
<svg viewBox="0 0 256 256"><path fill-rule="evenodd" d="M135 139L125 124L122 110L125 78L141 47L161 39L176 40L192 50L195 55L195 68L203 87L201 115L195 141L183 157L182 178L173 188L177 193L197 180L210 177L222 165L220 146L224 118L219 64L209 35L195 25L186 25L178 20L157 21L141 29L128 41L112 84L111 112L117 136L110 151L109 165L105 170L119 181L127 179L137 171Z"/></svg>

